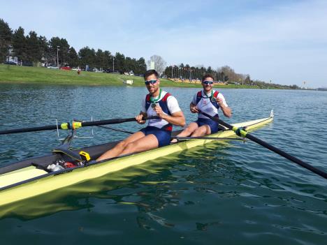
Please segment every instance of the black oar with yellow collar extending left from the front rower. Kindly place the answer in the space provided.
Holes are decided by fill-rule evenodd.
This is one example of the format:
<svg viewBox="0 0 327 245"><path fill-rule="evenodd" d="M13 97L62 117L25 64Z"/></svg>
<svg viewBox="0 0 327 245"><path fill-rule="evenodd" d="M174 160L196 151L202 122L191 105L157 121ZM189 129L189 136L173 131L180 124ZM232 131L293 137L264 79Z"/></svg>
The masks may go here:
<svg viewBox="0 0 327 245"><path fill-rule="evenodd" d="M159 119L159 117L147 117L144 118L145 120L149 119ZM50 131L50 130L57 130L57 129L77 129L81 127L89 127L89 126L101 126L106 124L122 124L124 122L128 121L136 121L135 117L131 118L125 118L125 119L108 119L108 120L101 120L101 121L73 121L70 123L63 123L60 125L49 125L49 126L38 126L38 127L32 127L32 128L15 128L15 129L8 129L0 131L0 135L8 135L11 133L26 133L26 132L37 132L37 131Z"/></svg>

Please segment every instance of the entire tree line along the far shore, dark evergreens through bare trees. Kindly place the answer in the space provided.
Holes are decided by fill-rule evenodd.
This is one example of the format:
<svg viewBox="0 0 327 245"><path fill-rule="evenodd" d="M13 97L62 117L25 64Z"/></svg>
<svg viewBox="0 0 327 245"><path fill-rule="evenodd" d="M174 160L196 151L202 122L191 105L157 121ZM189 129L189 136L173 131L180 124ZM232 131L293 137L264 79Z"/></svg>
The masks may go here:
<svg viewBox="0 0 327 245"><path fill-rule="evenodd" d="M71 66L80 68L103 68L111 71L124 73L133 70L135 74L144 74L147 70L145 59L125 57L124 54L116 52L112 54L108 50L94 50L88 46L82 47L78 52L68 44L65 38L52 37L47 40L45 36L38 36L35 31L29 31L26 35L24 29L10 29L8 23L0 19L0 63L8 57L17 57L18 62L23 65L39 66L41 63L48 65ZM203 65L189 66L180 64L178 66L166 66L166 61L159 55L150 57L147 61L151 67L151 61L159 74L182 80L201 80L205 73L210 73L216 81L235 84L256 85L259 87L276 87L299 89L297 85L280 85L260 80L252 80L249 74L235 73L229 66L221 66L217 69Z"/></svg>

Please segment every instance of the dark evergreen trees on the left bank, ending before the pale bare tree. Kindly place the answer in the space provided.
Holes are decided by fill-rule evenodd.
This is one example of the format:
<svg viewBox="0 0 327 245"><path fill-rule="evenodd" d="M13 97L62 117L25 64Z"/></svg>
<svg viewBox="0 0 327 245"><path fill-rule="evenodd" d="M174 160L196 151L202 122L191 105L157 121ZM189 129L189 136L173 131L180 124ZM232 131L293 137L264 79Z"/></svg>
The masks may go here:
<svg viewBox="0 0 327 245"><path fill-rule="evenodd" d="M145 59L125 57L108 50L94 50L88 46L78 52L68 44L65 38L38 36L35 31L25 34L22 27L10 29L7 22L0 19L0 63L8 57L17 57L19 64L39 66L41 63L52 66L71 66L86 68L103 68L115 70L119 73L133 70L136 74L143 74L147 70Z"/></svg>

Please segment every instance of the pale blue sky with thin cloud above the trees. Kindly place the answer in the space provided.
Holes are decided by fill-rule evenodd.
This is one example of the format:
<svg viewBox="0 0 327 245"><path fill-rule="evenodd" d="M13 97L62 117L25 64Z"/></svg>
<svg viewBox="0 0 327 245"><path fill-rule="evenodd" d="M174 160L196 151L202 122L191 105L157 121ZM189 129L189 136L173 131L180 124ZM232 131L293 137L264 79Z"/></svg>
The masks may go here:
<svg viewBox="0 0 327 245"><path fill-rule="evenodd" d="M0 18L75 50L230 66L252 80L327 87L327 1L7 1Z"/></svg>

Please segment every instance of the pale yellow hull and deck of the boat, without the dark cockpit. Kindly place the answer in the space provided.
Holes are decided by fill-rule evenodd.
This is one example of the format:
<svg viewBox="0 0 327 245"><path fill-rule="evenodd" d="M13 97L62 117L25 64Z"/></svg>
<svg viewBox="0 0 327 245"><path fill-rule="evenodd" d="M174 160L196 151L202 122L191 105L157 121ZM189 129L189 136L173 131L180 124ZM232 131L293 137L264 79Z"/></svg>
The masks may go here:
<svg viewBox="0 0 327 245"><path fill-rule="evenodd" d="M268 124L270 121L273 121L273 117L247 121L240 124L233 124L233 126L246 126L247 130L251 130L259 126L263 126L264 124ZM235 133L228 130L215 133L209 137L226 138L233 135L235 135ZM185 140L184 142L170 144L166 147L152 149L150 151L144 151L130 156L124 156L122 158L117 158L111 161L104 161L102 163L89 165L85 168L76 168L71 172L65 172L59 175L48 175L46 177L42 177L42 175L46 175L47 172L44 170L38 170L33 166L22 170L16 170L14 172L8 172L6 174L0 175L0 188L10 184L15 184L19 181L28 180L33 177L42 178L36 179L34 181L27 181L27 183L6 188L0 191L0 206L7 205L11 202L17 202L31 198L36 195L41 195L43 193L48 193L50 191L64 188L66 186L71 186L82 181L87 181L88 179L101 177L110 172L123 170L124 168L129 168L133 165L145 163L146 161L160 158L162 156L167 156L177 151L183 151L185 149L197 147L202 144L208 144L209 142L212 142L212 140Z"/></svg>

